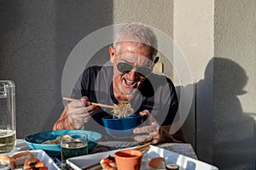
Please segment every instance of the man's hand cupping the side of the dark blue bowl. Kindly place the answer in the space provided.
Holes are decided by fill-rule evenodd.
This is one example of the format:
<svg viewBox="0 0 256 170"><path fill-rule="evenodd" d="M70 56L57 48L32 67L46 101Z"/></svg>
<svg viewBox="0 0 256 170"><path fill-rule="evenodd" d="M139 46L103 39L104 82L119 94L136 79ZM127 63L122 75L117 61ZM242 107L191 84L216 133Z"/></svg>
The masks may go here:
<svg viewBox="0 0 256 170"><path fill-rule="evenodd" d="M148 125L137 127L133 130L135 140L142 143L150 142L151 144L158 144L160 142L180 142L174 139L169 133L171 126L160 127L158 122L154 119L154 116L150 115L148 110L141 111L140 115L148 117Z"/></svg>

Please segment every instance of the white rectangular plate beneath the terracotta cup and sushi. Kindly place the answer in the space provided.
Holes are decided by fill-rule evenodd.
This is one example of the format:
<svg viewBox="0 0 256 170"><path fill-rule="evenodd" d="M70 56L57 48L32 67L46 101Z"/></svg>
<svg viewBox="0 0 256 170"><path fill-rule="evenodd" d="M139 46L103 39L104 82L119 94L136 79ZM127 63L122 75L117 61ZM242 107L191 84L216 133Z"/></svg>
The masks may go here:
<svg viewBox="0 0 256 170"><path fill-rule="evenodd" d="M67 164L73 167L74 170L81 170L83 167L89 166L96 162L99 162L102 158L113 156L114 152L117 150L90 154L87 156L77 156L67 159ZM143 162L141 170L148 169L148 161L154 157L164 157L166 159L166 164L176 163L179 166L179 170L218 170L218 167L214 167L206 162L195 160L188 156L183 156L172 152L170 150L164 150L160 147L150 145L150 149L143 154Z"/></svg>

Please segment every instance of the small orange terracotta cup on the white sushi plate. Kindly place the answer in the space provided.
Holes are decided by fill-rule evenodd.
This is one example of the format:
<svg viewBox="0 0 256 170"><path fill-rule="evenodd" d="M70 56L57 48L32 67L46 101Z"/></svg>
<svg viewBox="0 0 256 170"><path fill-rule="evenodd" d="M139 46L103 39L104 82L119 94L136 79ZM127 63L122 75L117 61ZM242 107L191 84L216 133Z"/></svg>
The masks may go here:
<svg viewBox="0 0 256 170"><path fill-rule="evenodd" d="M118 170L139 170L143 152L139 150L119 150L114 153L114 159Z"/></svg>

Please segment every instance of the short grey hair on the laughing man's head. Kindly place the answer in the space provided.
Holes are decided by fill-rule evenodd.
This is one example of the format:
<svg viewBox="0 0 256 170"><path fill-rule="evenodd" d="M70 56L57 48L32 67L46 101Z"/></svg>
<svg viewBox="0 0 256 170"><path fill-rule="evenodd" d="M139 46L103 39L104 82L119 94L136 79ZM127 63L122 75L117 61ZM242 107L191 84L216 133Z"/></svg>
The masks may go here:
<svg viewBox="0 0 256 170"><path fill-rule="evenodd" d="M119 50L118 42L135 42L140 46L148 46L151 50L151 58L154 59L157 54L157 39L154 32L140 23L128 23L121 26L117 34L115 35L115 41L113 42L113 48Z"/></svg>

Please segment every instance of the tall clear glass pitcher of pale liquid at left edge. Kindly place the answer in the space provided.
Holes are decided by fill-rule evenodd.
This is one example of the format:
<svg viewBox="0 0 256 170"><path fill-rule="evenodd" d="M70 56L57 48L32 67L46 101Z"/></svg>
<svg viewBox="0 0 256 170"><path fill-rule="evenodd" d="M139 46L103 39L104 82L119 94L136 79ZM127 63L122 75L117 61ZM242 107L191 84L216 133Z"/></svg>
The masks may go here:
<svg viewBox="0 0 256 170"><path fill-rule="evenodd" d="M0 153L15 148L15 82L0 81Z"/></svg>

